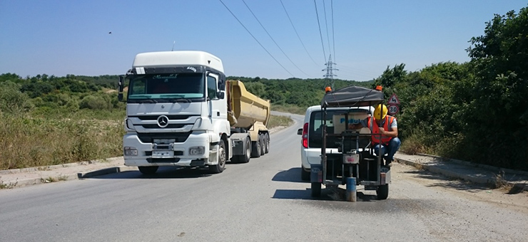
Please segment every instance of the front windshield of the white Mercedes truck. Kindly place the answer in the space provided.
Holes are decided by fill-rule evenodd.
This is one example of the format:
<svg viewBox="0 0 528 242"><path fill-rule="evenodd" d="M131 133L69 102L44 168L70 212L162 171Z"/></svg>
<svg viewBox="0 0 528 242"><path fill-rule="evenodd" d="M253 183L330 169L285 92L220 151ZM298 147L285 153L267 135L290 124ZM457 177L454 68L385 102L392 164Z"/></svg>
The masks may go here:
<svg viewBox="0 0 528 242"><path fill-rule="evenodd" d="M193 102L205 98L203 73L134 75L128 87L128 102Z"/></svg>

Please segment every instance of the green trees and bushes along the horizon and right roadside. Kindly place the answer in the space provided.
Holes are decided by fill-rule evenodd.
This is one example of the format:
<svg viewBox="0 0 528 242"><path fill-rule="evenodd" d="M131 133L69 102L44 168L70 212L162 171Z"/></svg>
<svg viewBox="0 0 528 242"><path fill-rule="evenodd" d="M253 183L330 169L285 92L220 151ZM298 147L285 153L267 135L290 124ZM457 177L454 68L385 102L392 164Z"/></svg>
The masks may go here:
<svg viewBox="0 0 528 242"><path fill-rule="evenodd" d="M400 98L402 149L481 164L528 170L528 9L495 15L484 34L469 41L467 63L435 63L418 71L405 64L369 82L335 80L375 88ZM275 105L320 104L324 79L286 80L231 76ZM0 75L0 111L124 110L117 75L98 77Z"/></svg>

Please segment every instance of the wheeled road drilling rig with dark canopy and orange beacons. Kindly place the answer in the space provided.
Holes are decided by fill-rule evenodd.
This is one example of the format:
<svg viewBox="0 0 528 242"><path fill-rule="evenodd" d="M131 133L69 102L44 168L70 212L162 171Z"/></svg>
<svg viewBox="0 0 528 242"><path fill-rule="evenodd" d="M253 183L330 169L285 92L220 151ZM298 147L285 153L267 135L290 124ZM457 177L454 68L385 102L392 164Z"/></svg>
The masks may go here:
<svg viewBox="0 0 528 242"><path fill-rule="evenodd" d="M360 121L356 118L357 111L364 110L360 107L368 107L372 110L372 106L383 101L382 91L354 85L325 94L321 101L323 115L321 163L312 164L310 168L312 196L321 195L322 184L327 188L346 184L347 192L353 193L353 200L349 199L349 201L355 201L357 185L365 186L365 190L375 190L377 199L387 199L390 167L385 167L383 164L381 149L379 154L375 154L371 142L371 136L374 135L372 125L361 130L349 129L349 123ZM330 107L340 107L339 114L332 112L334 117L326 117L327 109ZM370 115L372 112L365 113L362 117ZM379 136L381 140L381 135ZM338 147L337 152L335 149L328 149L330 143L332 147Z"/></svg>

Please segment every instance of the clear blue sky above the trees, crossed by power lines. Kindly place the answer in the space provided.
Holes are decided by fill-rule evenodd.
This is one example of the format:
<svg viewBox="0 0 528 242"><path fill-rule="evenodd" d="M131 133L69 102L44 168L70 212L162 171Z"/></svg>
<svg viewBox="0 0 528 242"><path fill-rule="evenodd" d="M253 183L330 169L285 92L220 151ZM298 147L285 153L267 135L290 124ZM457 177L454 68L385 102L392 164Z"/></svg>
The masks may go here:
<svg viewBox="0 0 528 242"><path fill-rule="evenodd" d="M305 51L280 0L245 0L280 48L242 0L222 1L284 68L220 0L1 0L0 73L124 74L136 53L171 51L176 41L175 51L221 58L226 75L322 78L332 54L337 78L372 80L387 65L415 71L469 61L468 41L484 33L486 21L528 6L526 0L325 0L325 21L323 0L316 0L322 44L314 1L282 0Z"/></svg>

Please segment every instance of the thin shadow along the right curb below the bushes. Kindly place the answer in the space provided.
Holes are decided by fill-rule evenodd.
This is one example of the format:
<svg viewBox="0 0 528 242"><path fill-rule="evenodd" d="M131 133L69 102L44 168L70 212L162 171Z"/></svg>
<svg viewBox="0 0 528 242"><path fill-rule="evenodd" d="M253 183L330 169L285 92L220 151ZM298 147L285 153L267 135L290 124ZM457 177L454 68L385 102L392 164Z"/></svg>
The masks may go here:
<svg viewBox="0 0 528 242"><path fill-rule="evenodd" d="M430 184L427 186L450 187L450 188L454 188L457 190L464 190L464 191L469 191L469 192L478 192L478 191L490 189L490 186L486 184L474 184L470 181L464 181L461 179L452 179L450 177L445 177L442 174L435 174L435 173L428 172L425 170L409 171L409 172L404 172L404 173L415 174L416 177L422 178L422 179L430 179L430 180L438 181L434 184Z"/></svg>

